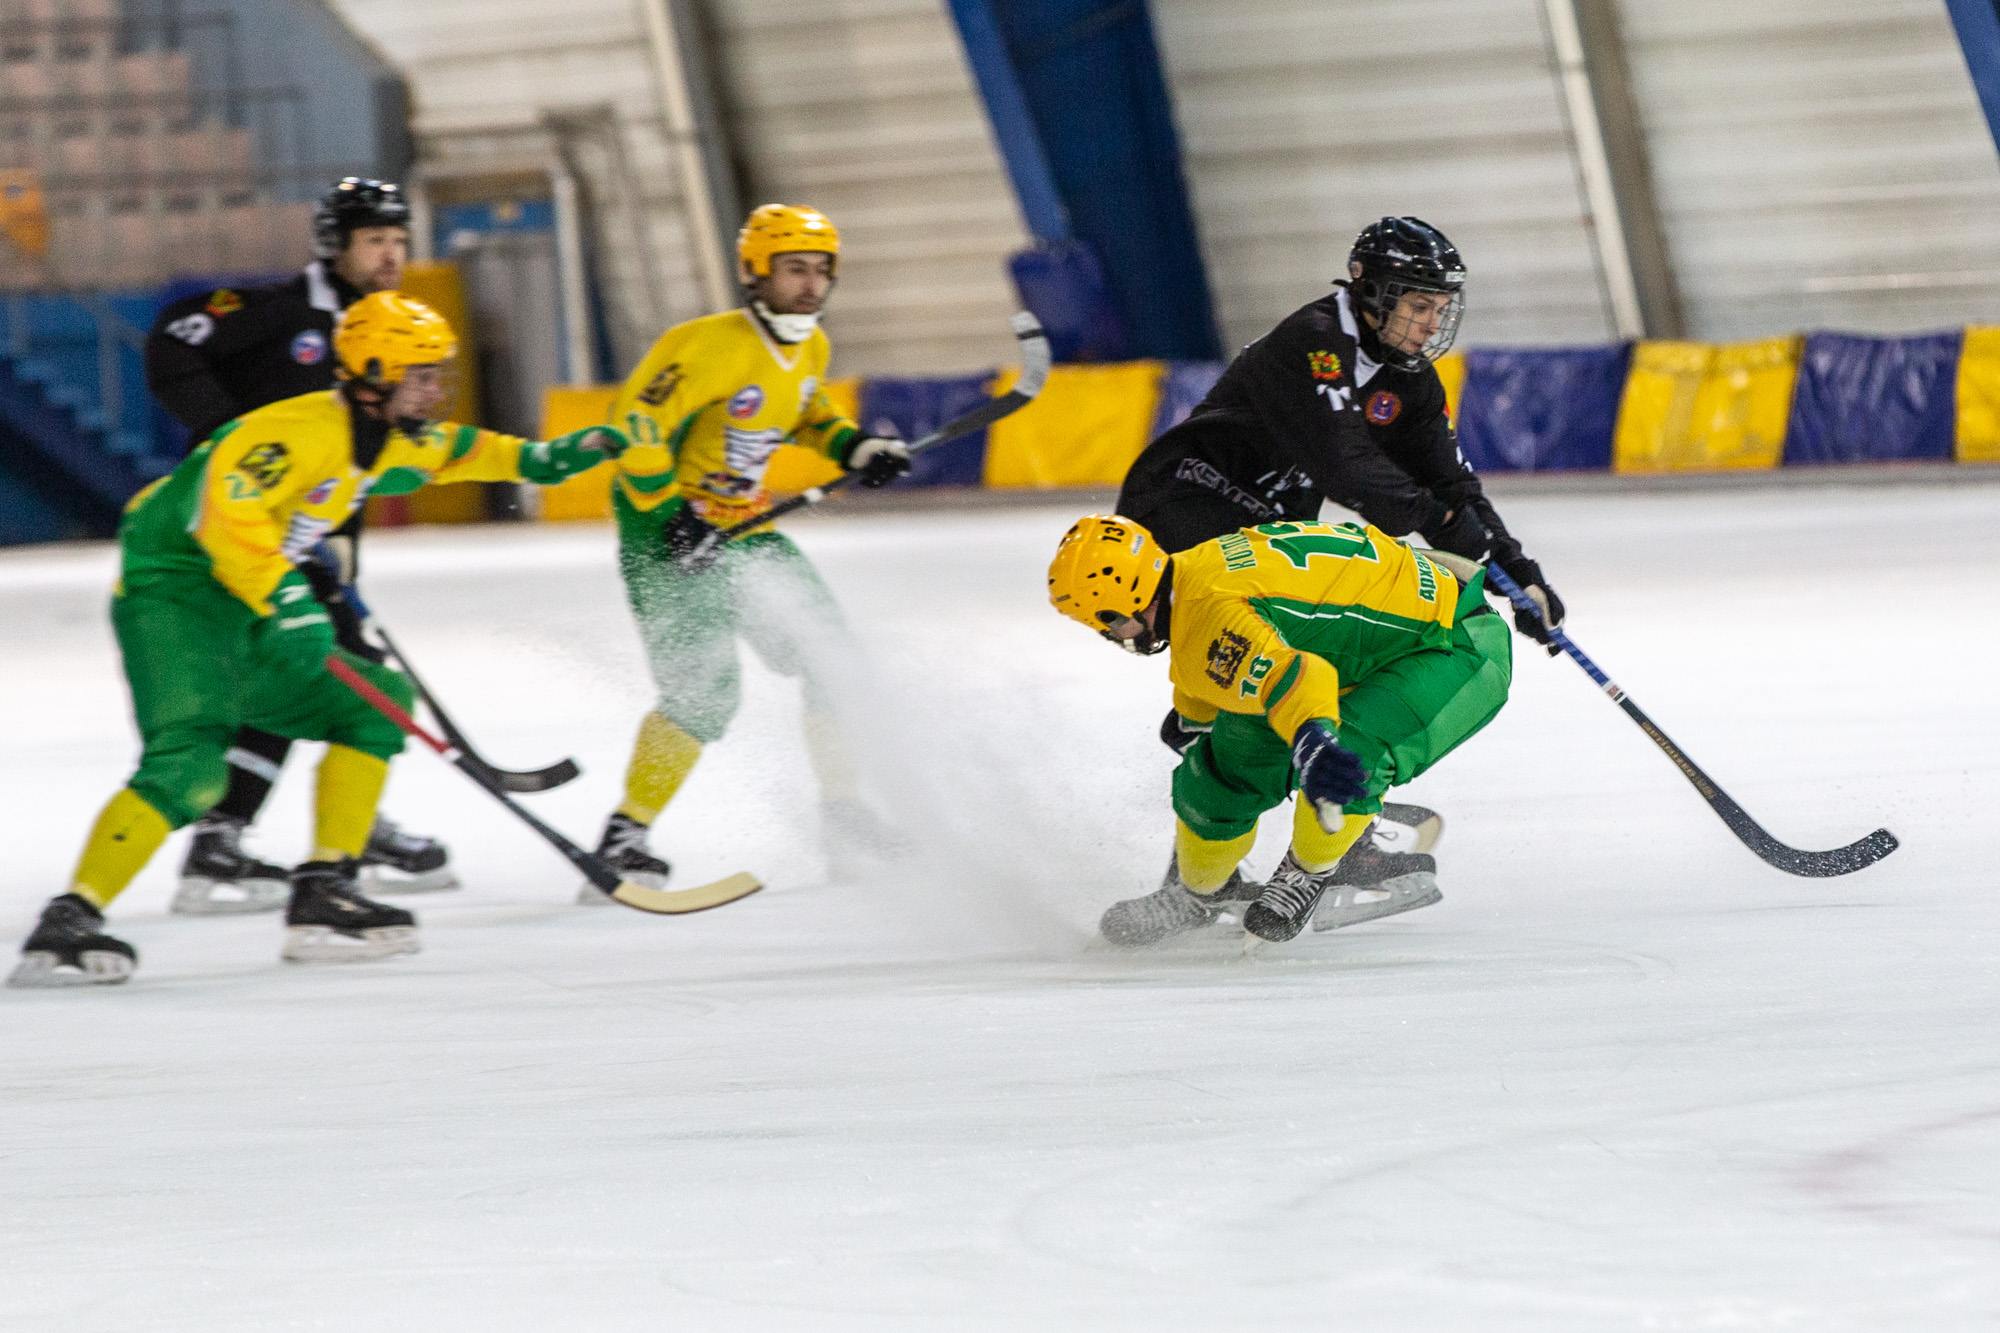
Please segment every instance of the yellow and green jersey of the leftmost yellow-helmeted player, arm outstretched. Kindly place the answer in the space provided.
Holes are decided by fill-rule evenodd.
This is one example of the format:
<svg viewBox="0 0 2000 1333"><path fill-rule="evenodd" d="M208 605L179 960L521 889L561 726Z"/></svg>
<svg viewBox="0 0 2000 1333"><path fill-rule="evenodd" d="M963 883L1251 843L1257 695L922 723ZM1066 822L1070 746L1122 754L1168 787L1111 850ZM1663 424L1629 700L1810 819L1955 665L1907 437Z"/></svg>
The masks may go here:
<svg viewBox="0 0 2000 1333"><path fill-rule="evenodd" d="M258 614L298 556L370 494L430 482L554 482L570 470L548 444L436 422L418 436L390 430L370 466L354 460L354 420L336 390L298 394L218 428L126 504L118 586L216 578Z"/></svg>

